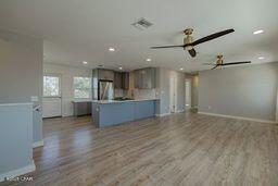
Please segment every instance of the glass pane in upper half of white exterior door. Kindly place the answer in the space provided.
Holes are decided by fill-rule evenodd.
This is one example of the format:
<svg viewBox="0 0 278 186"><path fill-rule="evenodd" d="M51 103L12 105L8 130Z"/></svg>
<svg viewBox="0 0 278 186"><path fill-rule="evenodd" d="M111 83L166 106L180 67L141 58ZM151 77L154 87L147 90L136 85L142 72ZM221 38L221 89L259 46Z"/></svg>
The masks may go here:
<svg viewBox="0 0 278 186"><path fill-rule="evenodd" d="M60 77L43 76L43 96L59 97L60 96Z"/></svg>

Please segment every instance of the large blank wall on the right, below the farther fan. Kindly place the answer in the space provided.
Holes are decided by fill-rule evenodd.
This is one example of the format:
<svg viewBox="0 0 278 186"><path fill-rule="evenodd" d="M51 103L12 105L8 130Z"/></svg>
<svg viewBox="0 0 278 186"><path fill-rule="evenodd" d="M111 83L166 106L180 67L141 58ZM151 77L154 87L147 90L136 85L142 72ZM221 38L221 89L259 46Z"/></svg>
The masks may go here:
<svg viewBox="0 0 278 186"><path fill-rule="evenodd" d="M199 111L275 121L278 62L199 73Z"/></svg>

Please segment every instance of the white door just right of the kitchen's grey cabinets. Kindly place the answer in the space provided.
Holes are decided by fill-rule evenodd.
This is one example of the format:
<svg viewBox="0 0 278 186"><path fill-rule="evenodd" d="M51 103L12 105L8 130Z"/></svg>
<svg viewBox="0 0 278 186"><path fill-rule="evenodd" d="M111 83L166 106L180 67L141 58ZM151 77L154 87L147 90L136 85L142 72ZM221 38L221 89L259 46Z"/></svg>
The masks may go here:
<svg viewBox="0 0 278 186"><path fill-rule="evenodd" d="M170 77L169 79L169 110L170 113L177 111L177 78Z"/></svg>

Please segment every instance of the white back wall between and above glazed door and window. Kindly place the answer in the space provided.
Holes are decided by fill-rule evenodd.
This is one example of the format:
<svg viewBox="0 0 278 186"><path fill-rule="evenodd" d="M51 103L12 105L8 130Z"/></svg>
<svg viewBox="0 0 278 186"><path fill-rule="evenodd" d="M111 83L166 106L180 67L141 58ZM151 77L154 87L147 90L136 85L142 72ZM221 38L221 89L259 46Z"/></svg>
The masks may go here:
<svg viewBox="0 0 278 186"><path fill-rule="evenodd" d="M58 74L61 76L62 116L73 115L73 79L75 76L91 77L92 70L43 63L43 73Z"/></svg>

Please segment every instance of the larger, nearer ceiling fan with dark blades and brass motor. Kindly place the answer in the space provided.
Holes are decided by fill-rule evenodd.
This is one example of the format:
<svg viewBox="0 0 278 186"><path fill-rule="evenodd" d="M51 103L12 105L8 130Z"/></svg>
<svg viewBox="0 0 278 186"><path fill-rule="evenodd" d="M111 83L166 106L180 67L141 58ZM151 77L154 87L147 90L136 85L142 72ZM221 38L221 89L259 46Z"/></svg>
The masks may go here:
<svg viewBox="0 0 278 186"><path fill-rule="evenodd" d="M218 37L222 37L224 35L233 33L235 29L226 29L219 33L215 33L212 35L208 35L206 37L203 37L201 39L198 39L195 41L193 41L193 37L191 36L193 33L192 28L188 28L186 30L184 30L184 34L186 35L185 39L184 39L184 45L179 45L179 46L162 46L162 47L151 47L151 49L164 49L164 48L184 48L184 50L187 50L189 52L189 54L194 58L197 52L194 49L194 46L198 46L199 44L203 44L213 39L216 39Z"/></svg>

